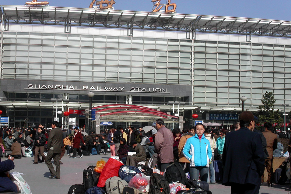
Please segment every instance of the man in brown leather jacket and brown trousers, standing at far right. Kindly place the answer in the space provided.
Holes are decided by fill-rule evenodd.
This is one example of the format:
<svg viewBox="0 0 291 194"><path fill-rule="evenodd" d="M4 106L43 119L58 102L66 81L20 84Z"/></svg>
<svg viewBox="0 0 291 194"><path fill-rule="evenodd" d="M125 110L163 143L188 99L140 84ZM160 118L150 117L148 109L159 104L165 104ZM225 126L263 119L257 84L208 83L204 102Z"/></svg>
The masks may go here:
<svg viewBox="0 0 291 194"><path fill-rule="evenodd" d="M272 177L273 177L273 151L277 148L277 135L272 133L271 131L272 124L271 123L265 123L264 129L265 131L262 132L264 137L267 141L267 151L269 156L265 159L265 166L267 168L268 172L268 186L272 187ZM262 182L264 179L264 174L262 175Z"/></svg>

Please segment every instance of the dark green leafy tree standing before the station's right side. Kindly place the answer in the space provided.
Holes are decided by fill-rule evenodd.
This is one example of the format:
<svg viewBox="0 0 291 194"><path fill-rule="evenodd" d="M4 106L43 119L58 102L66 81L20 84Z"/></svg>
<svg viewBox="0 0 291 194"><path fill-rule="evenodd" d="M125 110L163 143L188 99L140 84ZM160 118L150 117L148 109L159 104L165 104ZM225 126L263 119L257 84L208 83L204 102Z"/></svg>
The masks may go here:
<svg viewBox="0 0 291 194"><path fill-rule="evenodd" d="M277 123L280 125L280 123L283 122L283 118L281 117L281 114L278 110L274 110L274 94L273 92L268 92L263 95L263 98L261 100L262 105L260 105L258 108L258 124L259 126L264 125L265 122L270 122L272 124Z"/></svg>

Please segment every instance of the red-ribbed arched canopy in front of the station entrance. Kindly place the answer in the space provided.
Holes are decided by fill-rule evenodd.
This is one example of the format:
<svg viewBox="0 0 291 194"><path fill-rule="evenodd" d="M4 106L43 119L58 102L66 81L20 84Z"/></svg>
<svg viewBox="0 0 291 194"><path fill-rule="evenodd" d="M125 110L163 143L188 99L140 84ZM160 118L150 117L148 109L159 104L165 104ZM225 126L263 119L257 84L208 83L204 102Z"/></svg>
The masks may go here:
<svg viewBox="0 0 291 194"><path fill-rule="evenodd" d="M161 118L164 122L178 122L179 118L153 108L133 104L107 104L92 108L100 121L114 122L155 122Z"/></svg>

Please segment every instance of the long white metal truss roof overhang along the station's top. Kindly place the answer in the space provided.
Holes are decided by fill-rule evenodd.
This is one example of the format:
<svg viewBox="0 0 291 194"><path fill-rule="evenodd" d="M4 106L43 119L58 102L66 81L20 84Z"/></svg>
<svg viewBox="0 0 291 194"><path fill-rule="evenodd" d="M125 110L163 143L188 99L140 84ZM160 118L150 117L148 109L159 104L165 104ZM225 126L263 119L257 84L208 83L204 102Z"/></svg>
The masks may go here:
<svg viewBox="0 0 291 194"><path fill-rule="evenodd" d="M246 36L291 37L291 22L270 19L207 16L177 13L122 11L107 9L65 8L49 6L1 6L4 29L9 24L41 24L107 27L133 30L166 30L186 32L195 39L196 33L240 34Z"/></svg>

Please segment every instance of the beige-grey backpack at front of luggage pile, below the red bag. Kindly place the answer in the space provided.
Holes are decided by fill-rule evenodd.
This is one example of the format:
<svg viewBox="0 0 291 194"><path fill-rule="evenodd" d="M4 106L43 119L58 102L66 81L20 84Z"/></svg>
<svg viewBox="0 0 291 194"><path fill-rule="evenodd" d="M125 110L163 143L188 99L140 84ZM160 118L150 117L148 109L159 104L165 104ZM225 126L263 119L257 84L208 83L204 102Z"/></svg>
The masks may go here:
<svg viewBox="0 0 291 194"><path fill-rule="evenodd" d="M107 194L122 194L122 190L128 183L115 176L108 178L105 182Z"/></svg>

